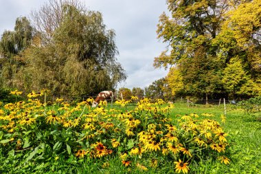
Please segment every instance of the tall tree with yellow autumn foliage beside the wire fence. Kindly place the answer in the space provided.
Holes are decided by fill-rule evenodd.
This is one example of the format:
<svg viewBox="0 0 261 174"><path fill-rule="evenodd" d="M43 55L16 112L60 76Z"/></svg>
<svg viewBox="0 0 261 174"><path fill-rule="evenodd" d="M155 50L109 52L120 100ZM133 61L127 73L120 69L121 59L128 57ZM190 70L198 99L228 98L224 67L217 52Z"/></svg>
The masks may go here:
<svg viewBox="0 0 261 174"><path fill-rule="evenodd" d="M172 94L206 100L260 95L260 0L167 4L171 16L161 14L157 34L169 46L154 65L172 67L166 77Z"/></svg>

